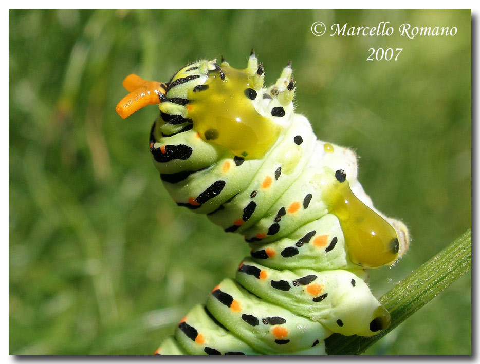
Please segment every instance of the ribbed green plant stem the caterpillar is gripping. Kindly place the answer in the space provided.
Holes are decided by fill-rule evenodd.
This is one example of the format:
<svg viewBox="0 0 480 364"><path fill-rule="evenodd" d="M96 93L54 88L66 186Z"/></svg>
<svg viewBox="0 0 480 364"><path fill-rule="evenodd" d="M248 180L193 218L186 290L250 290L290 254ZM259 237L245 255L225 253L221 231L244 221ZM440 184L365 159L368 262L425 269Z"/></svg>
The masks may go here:
<svg viewBox="0 0 480 364"><path fill-rule="evenodd" d="M445 290L472 266L472 230L422 264L416 271L380 298L392 316L390 327L372 337L334 334L326 340L328 355L358 355L395 329L403 320Z"/></svg>

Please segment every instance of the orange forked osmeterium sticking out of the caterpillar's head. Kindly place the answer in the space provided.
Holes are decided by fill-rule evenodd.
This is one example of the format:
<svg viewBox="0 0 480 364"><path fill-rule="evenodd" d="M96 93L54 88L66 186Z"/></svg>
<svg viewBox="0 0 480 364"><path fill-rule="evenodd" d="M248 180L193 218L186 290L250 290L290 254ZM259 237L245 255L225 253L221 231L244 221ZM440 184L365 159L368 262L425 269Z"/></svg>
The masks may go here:
<svg viewBox="0 0 480 364"><path fill-rule="evenodd" d="M162 95L167 93L167 85L156 81L146 81L136 74L128 75L122 83L127 89L127 94L115 108L115 111L125 119L135 111L146 105L159 104Z"/></svg>

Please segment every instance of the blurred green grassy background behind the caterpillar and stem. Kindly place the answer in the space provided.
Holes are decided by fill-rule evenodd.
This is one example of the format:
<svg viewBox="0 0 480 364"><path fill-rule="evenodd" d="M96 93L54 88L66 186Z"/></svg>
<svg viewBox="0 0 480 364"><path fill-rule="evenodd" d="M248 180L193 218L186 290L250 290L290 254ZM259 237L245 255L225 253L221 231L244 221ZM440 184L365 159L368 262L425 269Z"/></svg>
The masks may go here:
<svg viewBox="0 0 480 364"><path fill-rule="evenodd" d="M377 26L384 37L313 36ZM457 27L399 36L398 26ZM403 48L366 61L369 48ZM248 247L165 193L148 150L158 110L115 112L132 72L167 81L254 48L271 83L288 60L297 111L353 147L375 205L410 228L377 296L471 225L470 10L10 10L10 354L152 354ZM470 354L471 278L455 282L367 354Z"/></svg>

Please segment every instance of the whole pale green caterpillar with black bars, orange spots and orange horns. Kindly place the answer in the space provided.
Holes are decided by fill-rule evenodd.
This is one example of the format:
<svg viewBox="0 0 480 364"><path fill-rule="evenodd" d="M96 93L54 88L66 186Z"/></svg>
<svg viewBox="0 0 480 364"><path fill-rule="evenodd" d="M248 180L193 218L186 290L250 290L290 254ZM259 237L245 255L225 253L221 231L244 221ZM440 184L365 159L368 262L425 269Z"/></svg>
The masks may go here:
<svg viewBox="0 0 480 364"><path fill-rule="evenodd" d="M317 140L294 112L291 62L264 87L222 58L191 63L167 83L130 75L126 118L159 104L150 152L178 206L250 244L235 279L196 305L158 355L323 355L332 333L371 336L390 324L365 269L408 248L405 225L373 207L350 149Z"/></svg>

